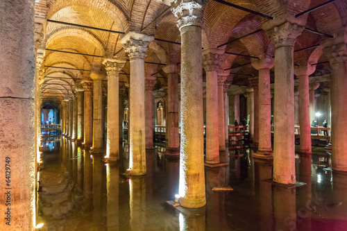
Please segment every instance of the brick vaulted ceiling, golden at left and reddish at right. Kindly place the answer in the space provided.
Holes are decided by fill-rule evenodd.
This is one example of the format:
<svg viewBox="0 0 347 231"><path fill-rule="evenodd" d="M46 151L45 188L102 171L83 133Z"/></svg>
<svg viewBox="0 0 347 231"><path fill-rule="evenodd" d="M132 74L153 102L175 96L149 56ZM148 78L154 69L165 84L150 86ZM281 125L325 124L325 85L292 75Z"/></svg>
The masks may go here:
<svg viewBox="0 0 347 231"><path fill-rule="evenodd" d="M235 40L237 37L257 31L260 28L266 30L276 24L282 24L284 20L301 24L307 28L329 35L341 33L341 30L347 24L346 0L336 0L327 6L298 18L295 18L294 15L327 0L226 1L271 15L275 19L264 19L258 15L210 0L204 12L202 35L204 49L217 47L225 42ZM103 58L127 58L126 53L122 51L120 42L122 34L56 24L46 22L46 19L124 33L128 31L143 32L154 35L155 38L161 40L179 43L180 31L176 26L176 17L168 9L169 6L160 0L36 0L35 22L43 24L42 28L36 28L35 26L35 32L41 35L39 36L39 51L47 49L42 57L40 68L40 78L44 81L42 92L67 96L76 87L79 87L79 80L89 78L89 71L83 70L101 69L101 71L105 71L103 65L101 65ZM229 52L256 57L273 55L273 43L268 39L264 30L221 48ZM303 31L296 40L294 50L315 46L324 38L322 35ZM85 53L98 57L61 53L49 51L48 49ZM300 63L305 60L310 60L313 63L326 61L327 58L323 55L321 49L321 46L317 46L294 53L294 63ZM150 44L146 61L162 64L178 63L180 62L180 45L155 40L155 42ZM251 62L251 58L226 54L223 67L226 69L248 62ZM52 66L80 70L56 69L52 68ZM321 74L329 72L328 63L317 65L316 68L316 72ZM158 72L156 76L164 77L164 72L161 71L162 65L146 64L145 69L146 75L151 76L151 74ZM129 73L128 63L124 65L123 71L126 74ZM234 76L237 85L248 85L248 79L243 76L244 74L257 75L257 71L251 65L232 69L231 72L239 75L230 74L230 76ZM46 76L55 76L60 79L45 78ZM128 83L128 76L121 75L120 81ZM104 83L105 85L107 84L106 82ZM158 78L158 83L159 87L167 84L163 78Z"/></svg>

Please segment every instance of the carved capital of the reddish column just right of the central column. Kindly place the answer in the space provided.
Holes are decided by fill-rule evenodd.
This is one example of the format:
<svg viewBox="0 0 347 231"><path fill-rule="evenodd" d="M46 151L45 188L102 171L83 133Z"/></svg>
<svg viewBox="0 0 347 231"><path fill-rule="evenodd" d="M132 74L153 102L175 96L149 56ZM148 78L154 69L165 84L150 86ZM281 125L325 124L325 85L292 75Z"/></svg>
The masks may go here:
<svg viewBox="0 0 347 231"><path fill-rule="evenodd" d="M224 51L222 49L203 50L203 68L205 71L219 71Z"/></svg>

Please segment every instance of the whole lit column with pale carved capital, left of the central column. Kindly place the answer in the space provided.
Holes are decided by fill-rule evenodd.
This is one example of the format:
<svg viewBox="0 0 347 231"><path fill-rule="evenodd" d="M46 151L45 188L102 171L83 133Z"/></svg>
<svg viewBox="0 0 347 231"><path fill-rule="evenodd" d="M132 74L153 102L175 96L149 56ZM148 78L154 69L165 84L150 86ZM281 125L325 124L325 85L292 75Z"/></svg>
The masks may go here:
<svg viewBox="0 0 347 231"><path fill-rule="evenodd" d="M153 37L130 31L121 39L130 58L129 169L131 175L146 174L146 133L144 110L144 58Z"/></svg>

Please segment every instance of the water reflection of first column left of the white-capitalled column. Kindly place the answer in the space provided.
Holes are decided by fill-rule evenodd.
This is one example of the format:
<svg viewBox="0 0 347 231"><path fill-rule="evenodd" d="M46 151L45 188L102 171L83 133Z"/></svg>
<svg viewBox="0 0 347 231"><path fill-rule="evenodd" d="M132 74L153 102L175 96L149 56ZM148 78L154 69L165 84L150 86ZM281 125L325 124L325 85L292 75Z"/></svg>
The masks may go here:
<svg viewBox="0 0 347 231"><path fill-rule="evenodd" d="M107 227L108 230L119 230L119 165L106 165L107 179Z"/></svg>

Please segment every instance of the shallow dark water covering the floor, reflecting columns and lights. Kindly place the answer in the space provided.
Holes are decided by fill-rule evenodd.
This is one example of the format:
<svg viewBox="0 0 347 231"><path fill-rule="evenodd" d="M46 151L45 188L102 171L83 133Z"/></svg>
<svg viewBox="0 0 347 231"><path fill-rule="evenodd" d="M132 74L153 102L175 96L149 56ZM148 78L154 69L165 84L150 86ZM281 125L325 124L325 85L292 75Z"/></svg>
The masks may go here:
<svg viewBox="0 0 347 231"><path fill-rule="evenodd" d="M179 161L164 156L165 145L146 151L147 174L126 178L128 144L121 160L83 151L69 139L44 142L37 223L42 230L347 230L347 175L330 170L330 155L314 148L296 155L296 180L285 189L262 179L272 166L253 161L249 148L221 153L228 166L205 168L206 206L174 209ZM212 191L230 186L233 191Z"/></svg>

